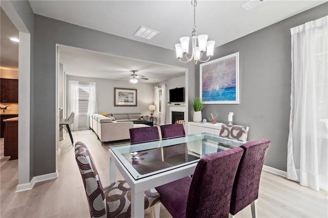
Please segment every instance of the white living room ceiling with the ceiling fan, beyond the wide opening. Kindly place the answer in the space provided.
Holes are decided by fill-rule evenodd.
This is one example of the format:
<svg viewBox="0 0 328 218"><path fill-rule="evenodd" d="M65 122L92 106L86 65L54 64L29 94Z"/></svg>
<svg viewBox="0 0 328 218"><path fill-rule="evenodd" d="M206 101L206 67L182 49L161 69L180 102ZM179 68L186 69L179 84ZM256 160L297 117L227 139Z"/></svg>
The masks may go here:
<svg viewBox="0 0 328 218"><path fill-rule="evenodd" d="M68 46L59 46L59 62L64 64L68 75L119 79L131 76L131 70L139 70L148 80L144 83L157 83L177 76L185 75L185 69L163 64L113 56ZM126 79L128 80L128 79Z"/></svg>

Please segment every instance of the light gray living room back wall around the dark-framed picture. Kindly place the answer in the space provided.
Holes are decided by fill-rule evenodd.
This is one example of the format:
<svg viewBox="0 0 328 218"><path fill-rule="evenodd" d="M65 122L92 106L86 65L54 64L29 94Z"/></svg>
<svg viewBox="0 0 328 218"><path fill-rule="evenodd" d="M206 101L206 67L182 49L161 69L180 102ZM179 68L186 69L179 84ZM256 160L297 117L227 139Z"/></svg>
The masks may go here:
<svg viewBox="0 0 328 218"><path fill-rule="evenodd" d="M67 75L66 90L68 90L69 80L97 83L96 90L99 113L141 113L150 116L148 105L154 104L154 84L138 82L133 86L128 80L98 79ZM114 87L137 89L137 106L114 106ZM68 92L66 92L66 102L68 104ZM86 128L86 115L79 116L78 128Z"/></svg>

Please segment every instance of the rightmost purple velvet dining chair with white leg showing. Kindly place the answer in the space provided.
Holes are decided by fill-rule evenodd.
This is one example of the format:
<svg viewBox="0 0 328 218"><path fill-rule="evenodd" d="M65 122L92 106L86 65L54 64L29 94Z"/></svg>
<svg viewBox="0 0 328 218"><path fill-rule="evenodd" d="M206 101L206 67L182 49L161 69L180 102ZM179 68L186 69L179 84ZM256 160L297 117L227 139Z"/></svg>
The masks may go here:
<svg viewBox="0 0 328 218"><path fill-rule="evenodd" d="M271 141L268 139L247 142L241 157L230 203L230 217L251 204L252 217L257 217L257 198L265 154Z"/></svg>

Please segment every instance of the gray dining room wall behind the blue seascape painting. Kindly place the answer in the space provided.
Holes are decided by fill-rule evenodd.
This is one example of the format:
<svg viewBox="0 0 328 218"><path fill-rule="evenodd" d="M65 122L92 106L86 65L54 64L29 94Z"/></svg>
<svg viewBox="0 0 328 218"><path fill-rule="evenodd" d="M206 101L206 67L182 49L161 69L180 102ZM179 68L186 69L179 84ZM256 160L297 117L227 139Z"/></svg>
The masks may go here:
<svg viewBox="0 0 328 218"><path fill-rule="evenodd" d="M290 29L328 15L328 3L297 14L277 24L236 39L215 49L216 59L240 52L240 104L209 104L203 117L218 113L227 123L250 127L248 140L271 139L264 164L286 171L291 97ZM199 68L196 68L199 81ZM199 84L196 83L197 95Z"/></svg>

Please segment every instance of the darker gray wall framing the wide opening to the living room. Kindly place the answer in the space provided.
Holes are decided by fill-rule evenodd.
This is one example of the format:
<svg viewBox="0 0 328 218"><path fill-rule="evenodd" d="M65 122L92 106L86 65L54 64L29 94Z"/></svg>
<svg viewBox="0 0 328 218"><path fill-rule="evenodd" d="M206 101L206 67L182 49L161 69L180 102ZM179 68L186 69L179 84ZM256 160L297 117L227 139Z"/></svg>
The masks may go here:
<svg viewBox="0 0 328 218"><path fill-rule="evenodd" d="M34 176L55 172L56 43L189 69L195 83L195 66L183 64L173 50L163 49L104 32L35 15L34 17ZM194 90L189 96L193 98Z"/></svg>

